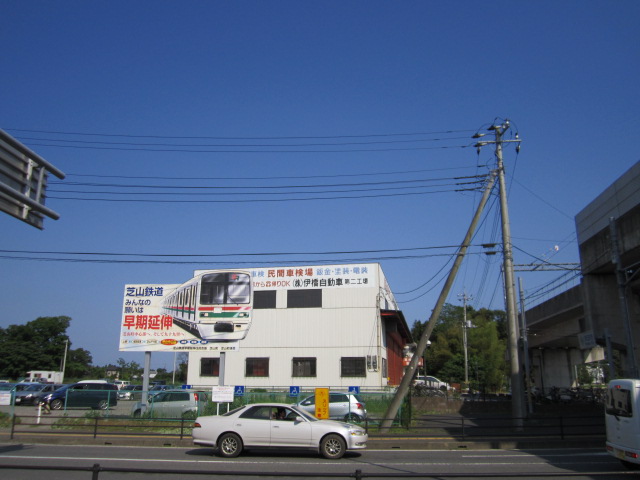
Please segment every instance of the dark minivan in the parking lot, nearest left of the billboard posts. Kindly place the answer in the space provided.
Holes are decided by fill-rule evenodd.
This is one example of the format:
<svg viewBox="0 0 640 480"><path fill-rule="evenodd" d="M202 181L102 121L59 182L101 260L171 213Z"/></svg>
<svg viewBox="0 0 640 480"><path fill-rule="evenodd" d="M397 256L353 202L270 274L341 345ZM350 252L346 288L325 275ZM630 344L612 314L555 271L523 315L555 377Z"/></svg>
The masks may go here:
<svg viewBox="0 0 640 480"><path fill-rule="evenodd" d="M83 380L65 385L42 397L53 410L89 407L106 410L118 404L118 387L100 380Z"/></svg>

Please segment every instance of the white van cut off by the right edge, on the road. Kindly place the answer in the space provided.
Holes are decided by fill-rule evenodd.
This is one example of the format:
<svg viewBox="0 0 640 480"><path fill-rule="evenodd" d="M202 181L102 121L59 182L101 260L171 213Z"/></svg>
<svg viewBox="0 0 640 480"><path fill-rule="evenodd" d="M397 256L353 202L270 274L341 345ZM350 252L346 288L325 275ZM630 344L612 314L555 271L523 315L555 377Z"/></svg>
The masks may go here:
<svg viewBox="0 0 640 480"><path fill-rule="evenodd" d="M605 400L607 452L629 469L640 468L640 380L612 380Z"/></svg>

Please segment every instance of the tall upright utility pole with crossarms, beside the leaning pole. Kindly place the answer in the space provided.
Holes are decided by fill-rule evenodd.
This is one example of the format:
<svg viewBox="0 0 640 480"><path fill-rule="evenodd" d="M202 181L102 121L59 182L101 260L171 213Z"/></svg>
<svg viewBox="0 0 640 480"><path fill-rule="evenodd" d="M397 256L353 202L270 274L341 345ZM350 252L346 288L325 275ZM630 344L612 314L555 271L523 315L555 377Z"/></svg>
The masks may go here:
<svg viewBox="0 0 640 480"><path fill-rule="evenodd" d="M496 162L498 170L498 184L500 185L500 212L502 215L502 256L504 269L504 288L506 296L507 328L509 352L509 371L511 380L511 412L516 426L522 424L525 416L524 396L522 392L522 375L520 371L520 361L518 355L518 321L516 311L515 282L513 279L513 252L511 249L511 226L509 224L509 208L507 206L507 189L504 178L504 164L502 161L502 144L516 143L516 151L520 150L520 139L516 133L515 140L505 140L505 132L509 129L510 122L505 120L501 125L492 125L488 128L495 135L495 140L486 140L476 143L478 152L480 148L494 144L496 146ZM485 134L476 134L474 138L481 138Z"/></svg>

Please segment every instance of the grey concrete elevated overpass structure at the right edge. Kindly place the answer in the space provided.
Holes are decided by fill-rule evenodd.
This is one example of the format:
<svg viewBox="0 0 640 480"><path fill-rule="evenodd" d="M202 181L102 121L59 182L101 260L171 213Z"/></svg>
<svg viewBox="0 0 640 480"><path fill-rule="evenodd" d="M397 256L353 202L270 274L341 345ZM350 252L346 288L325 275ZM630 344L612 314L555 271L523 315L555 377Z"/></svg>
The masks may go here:
<svg viewBox="0 0 640 480"><path fill-rule="evenodd" d="M640 367L640 162L576 216L582 282L525 312L531 376L545 390L576 386L577 366ZM617 263L616 263L617 262Z"/></svg>

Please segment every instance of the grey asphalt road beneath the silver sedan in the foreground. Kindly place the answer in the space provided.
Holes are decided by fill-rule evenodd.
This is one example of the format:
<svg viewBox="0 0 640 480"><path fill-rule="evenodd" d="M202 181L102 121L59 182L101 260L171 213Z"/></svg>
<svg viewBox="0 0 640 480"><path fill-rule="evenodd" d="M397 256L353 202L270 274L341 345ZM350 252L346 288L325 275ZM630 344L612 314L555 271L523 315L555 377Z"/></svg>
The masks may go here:
<svg viewBox="0 0 640 480"><path fill-rule="evenodd" d="M101 467L122 469L120 472L33 471L2 468L7 465L25 468ZM149 473L136 473L146 469ZM184 470L194 475L176 473ZM602 449L560 450L366 450L349 453L338 461L325 460L312 452L278 452L255 450L237 459L211 455L211 449L64 446L0 444L0 478L33 480L185 480L203 475L214 478L354 478L360 470L364 478L402 478L422 475L422 478L558 478L620 479L640 478L640 473L627 471ZM213 472L222 474L212 475ZM327 478L327 477L324 477Z"/></svg>

